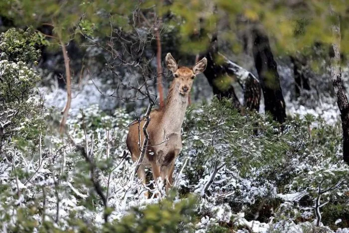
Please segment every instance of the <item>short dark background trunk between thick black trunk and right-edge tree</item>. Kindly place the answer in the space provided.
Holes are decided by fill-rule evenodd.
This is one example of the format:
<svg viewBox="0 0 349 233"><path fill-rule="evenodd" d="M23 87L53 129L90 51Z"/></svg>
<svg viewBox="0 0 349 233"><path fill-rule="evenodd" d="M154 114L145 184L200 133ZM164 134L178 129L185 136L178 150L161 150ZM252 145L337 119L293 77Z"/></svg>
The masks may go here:
<svg viewBox="0 0 349 233"><path fill-rule="evenodd" d="M301 89L310 90L309 79L304 73L303 67L307 65L305 60L298 59L294 56L290 56L291 62L293 63L293 74L295 76L295 91L296 97L298 98L301 95Z"/></svg>

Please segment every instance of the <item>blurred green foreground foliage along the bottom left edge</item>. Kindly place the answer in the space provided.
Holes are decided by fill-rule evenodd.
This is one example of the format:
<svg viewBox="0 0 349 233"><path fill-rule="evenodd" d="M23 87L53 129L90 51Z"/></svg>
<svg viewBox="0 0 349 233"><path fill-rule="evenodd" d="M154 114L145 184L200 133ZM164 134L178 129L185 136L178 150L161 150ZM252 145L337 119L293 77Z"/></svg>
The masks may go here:
<svg viewBox="0 0 349 233"><path fill-rule="evenodd" d="M39 232L79 232L85 233L168 233L168 232L193 232L194 207L196 199L189 197L179 201L174 201L172 197L163 199L159 203L150 204L144 207L132 208L120 220L115 220L104 224L100 228L87 224L76 218L74 213L68 219L69 227L63 231L59 226L50 221L45 221L39 226L38 221L33 218L39 210L35 206L30 208L17 208L16 222L13 227L8 228L9 232L32 232L35 228ZM9 206L11 209L12 207ZM11 213L5 212L2 217L11 218ZM0 221L0 227L3 227Z"/></svg>

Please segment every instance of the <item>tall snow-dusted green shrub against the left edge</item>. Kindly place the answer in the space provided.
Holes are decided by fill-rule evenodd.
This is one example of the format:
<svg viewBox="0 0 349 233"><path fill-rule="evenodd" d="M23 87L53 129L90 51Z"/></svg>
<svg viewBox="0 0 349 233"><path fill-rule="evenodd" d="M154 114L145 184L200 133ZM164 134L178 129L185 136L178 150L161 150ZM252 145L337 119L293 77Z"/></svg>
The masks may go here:
<svg viewBox="0 0 349 233"><path fill-rule="evenodd" d="M30 32L10 29L2 33L0 53L1 152L4 141L11 141L11 137L19 130L27 131L25 126L28 124L32 124L36 129L40 128L38 121L31 121L40 116L42 101L32 98L37 94L34 87L40 77L28 67L28 63L34 62L38 56ZM36 134L38 135L37 132ZM27 132L27 135L30 133Z"/></svg>

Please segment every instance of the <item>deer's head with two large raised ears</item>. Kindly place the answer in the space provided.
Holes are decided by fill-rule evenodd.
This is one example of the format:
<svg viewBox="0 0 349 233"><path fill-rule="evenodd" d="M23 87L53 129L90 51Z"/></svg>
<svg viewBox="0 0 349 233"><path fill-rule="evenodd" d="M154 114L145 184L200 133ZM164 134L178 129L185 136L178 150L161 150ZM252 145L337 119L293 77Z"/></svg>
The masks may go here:
<svg viewBox="0 0 349 233"><path fill-rule="evenodd" d="M166 55L166 66L174 74L174 82L176 83L176 88L179 93L183 96L188 95L192 82L195 76L199 73L202 73L207 65L207 59L204 57L198 61L192 69L188 67L179 67L175 62L171 53Z"/></svg>

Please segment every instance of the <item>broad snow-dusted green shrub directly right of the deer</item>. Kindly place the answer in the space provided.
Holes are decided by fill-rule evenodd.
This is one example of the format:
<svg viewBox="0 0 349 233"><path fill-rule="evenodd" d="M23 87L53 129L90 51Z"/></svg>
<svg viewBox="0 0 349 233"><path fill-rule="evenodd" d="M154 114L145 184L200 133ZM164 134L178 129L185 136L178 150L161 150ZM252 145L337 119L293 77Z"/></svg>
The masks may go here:
<svg viewBox="0 0 349 233"><path fill-rule="evenodd" d="M240 198L247 203L255 196L275 195L275 186L290 179L285 177L293 172L289 161L304 149L299 140L307 137L296 123L280 133L269 118L254 113L242 116L231 102L217 100L189 111L185 128L183 155L190 159L184 174L191 190L202 195L235 190L238 196L243 192ZM207 189L211 175L214 182Z"/></svg>

